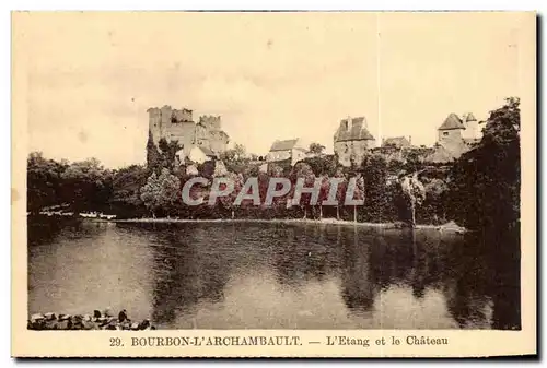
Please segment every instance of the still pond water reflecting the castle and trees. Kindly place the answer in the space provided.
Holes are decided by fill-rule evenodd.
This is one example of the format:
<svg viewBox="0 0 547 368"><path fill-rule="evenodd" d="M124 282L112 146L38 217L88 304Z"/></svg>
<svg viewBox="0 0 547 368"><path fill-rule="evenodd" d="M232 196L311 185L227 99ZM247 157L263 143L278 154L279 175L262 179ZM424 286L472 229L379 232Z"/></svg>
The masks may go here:
<svg viewBox="0 0 547 368"><path fill-rule="evenodd" d="M126 308L159 329L520 327L516 272L438 230L79 222L30 226L28 240L30 313Z"/></svg>

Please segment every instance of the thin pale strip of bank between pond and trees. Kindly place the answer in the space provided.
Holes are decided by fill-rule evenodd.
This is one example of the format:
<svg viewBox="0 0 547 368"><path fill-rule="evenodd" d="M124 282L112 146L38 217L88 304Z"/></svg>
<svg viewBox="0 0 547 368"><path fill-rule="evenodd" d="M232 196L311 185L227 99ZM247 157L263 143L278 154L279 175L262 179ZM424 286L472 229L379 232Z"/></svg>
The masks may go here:
<svg viewBox="0 0 547 368"><path fill-rule="evenodd" d="M359 226L359 227L371 227L371 228L382 228L382 229L404 229L410 228L405 225L397 223L356 223L352 221L345 219L313 219L313 218L203 218L203 219L193 219L193 218L127 218L127 219L110 219L112 223L133 223L133 224L177 224L177 223L277 223L277 224L321 224L321 225L345 225L345 226ZM449 225L449 226L447 226ZM415 229L435 229L442 232L453 232L453 233L467 233L462 226L457 226L453 223L447 223L445 225L416 225Z"/></svg>

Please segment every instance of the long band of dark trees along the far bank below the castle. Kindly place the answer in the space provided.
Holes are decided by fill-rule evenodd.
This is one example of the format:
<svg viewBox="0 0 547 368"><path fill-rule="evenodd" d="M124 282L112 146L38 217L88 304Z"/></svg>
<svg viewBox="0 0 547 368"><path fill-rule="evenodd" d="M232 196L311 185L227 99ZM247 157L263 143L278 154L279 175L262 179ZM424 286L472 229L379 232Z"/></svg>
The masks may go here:
<svg viewBox="0 0 547 368"><path fill-rule="evenodd" d="M405 162L387 161L380 154L365 156L360 165L346 168L334 155L323 155L324 147L314 144L315 157L305 158L293 167L269 164L261 173L256 157L236 145L222 154L225 170L216 163L197 166L187 174L190 163L177 163L176 142L162 140L158 147L148 146L149 165L132 165L121 169L107 169L94 158L69 163L47 159L39 153L28 156L27 203L30 212L65 204L74 212L107 211L120 217L179 216L203 217L337 217L359 222L395 222L411 218L412 193L401 188L404 176L419 173L423 186L422 201L416 206L418 223L440 224L447 221L467 228L516 226L520 218L520 109L519 99L509 98L501 108L490 112L481 141L461 158L443 166L427 166L419 157ZM181 198L184 183L193 176L212 179L231 177L235 189L230 197L220 198L214 206L207 203L187 206ZM319 201L329 190L329 178L342 180L336 194L338 206L311 206L310 194L304 194L299 206L288 206L293 191L277 198L271 207L255 206L233 200L249 177L257 177L260 202L264 203L269 179L286 177L294 188L298 178L313 186L322 182ZM350 177L358 177L356 198L364 205L345 207L344 198ZM194 195L207 194L209 188L197 188ZM206 200L207 202L207 200Z"/></svg>

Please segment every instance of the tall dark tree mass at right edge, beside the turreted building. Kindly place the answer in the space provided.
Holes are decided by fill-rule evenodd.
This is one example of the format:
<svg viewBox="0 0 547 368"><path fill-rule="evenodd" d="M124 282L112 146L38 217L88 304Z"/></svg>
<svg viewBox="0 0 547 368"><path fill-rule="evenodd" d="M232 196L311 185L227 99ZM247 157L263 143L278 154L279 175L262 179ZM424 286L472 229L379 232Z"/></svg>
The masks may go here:
<svg viewBox="0 0 547 368"><path fill-rule="evenodd" d="M468 229L501 232L520 222L520 100L490 111L482 139L450 173L449 209Z"/></svg>

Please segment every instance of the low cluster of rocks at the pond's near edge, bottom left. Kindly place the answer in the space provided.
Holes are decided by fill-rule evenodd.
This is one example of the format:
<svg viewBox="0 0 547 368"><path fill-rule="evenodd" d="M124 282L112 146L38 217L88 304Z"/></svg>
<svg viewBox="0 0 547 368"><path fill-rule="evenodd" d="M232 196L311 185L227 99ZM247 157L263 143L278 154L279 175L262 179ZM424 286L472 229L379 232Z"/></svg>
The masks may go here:
<svg viewBox="0 0 547 368"><path fill-rule="evenodd" d="M28 330L155 330L149 319L131 321L124 309L114 317L108 310L93 311L93 314L32 314L27 321Z"/></svg>

